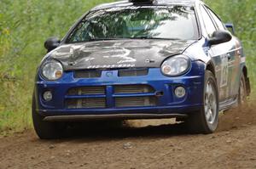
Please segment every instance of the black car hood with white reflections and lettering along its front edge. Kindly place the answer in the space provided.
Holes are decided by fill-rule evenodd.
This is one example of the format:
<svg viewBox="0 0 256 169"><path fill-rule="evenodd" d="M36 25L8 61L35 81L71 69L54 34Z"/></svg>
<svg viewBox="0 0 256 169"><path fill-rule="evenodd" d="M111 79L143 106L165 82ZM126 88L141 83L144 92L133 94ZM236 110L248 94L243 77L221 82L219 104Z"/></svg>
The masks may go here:
<svg viewBox="0 0 256 169"><path fill-rule="evenodd" d="M167 57L181 54L195 41L113 40L64 44L49 54L64 70L160 67Z"/></svg>

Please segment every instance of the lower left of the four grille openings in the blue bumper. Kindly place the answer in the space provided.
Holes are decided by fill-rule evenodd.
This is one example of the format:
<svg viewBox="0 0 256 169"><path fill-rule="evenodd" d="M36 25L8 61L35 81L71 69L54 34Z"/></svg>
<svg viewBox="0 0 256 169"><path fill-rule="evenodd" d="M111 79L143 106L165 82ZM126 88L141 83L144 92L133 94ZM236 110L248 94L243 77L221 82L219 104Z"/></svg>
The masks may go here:
<svg viewBox="0 0 256 169"><path fill-rule="evenodd" d="M67 99L67 109L90 109L90 108L105 108L106 99Z"/></svg>

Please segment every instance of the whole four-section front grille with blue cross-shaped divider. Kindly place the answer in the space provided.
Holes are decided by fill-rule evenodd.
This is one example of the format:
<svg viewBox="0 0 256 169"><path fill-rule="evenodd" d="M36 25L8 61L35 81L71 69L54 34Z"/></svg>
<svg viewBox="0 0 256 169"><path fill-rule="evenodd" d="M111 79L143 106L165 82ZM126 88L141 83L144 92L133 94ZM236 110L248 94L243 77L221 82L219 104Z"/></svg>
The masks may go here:
<svg viewBox="0 0 256 169"><path fill-rule="evenodd" d="M109 88L109 89L108 89ZM154 106L158 99L155 90L148 85L73 87L67 91L65 104L67 109L98 109ZM107 90L108 89L108 90ZM107 104L114 99L115 104Z"/></svg>

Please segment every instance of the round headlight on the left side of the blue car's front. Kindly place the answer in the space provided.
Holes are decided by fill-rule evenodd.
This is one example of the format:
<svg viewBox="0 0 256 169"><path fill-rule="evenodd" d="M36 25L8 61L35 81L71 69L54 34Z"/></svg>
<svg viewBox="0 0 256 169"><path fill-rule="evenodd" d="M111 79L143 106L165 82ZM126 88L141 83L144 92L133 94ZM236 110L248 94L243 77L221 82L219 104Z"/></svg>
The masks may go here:
<svg viewBox="0 0 256 169"><path fill-rule="evenodd" d="M55 81L61 78L63 68L60 62L49 60L42 65L41 72L46 80Z"/></svg>

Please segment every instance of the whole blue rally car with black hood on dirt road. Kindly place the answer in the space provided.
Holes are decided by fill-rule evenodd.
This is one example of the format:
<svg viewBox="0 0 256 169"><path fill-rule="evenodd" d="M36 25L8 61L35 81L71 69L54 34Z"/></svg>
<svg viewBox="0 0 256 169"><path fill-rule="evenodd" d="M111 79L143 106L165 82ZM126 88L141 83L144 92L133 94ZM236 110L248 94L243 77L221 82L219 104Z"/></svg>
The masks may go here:
<svg viewBox="0 0 256 169"><path fill-rule="evenodd" d="M241 42L227 28L199 0L92 8L61 41L44 43L32 99L38 137L99 119L176 118L191 132L214 132L218 112L250 93Z"/></svg>

